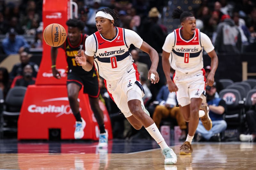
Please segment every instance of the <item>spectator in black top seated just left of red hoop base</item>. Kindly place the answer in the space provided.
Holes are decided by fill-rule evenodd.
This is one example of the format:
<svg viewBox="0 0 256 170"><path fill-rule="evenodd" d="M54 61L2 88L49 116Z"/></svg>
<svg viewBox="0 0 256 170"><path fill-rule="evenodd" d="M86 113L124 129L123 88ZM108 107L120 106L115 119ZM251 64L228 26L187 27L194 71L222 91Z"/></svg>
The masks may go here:
<svg viewBox="0 0 256 170"><path fill-rule="evenodd" d="M23 68L23 75L22 76L16 76L14 80L12 81L11 88L14 86L24 86L28 87L28 85L35 84L36 78L32 77L33 69L28 64Z"/></svg>

